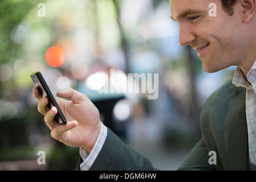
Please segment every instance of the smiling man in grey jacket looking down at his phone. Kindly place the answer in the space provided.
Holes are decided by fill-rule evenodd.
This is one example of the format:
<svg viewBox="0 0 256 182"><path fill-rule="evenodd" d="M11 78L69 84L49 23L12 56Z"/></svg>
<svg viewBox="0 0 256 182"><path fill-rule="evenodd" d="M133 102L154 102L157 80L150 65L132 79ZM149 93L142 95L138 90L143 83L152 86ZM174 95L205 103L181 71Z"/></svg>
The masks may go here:
<svg viewBox="0 0 256 182"><path fill-rule="evenodd" d="M202 138L178 169L256 169L256 0L170 0L171 18L180 25L181 46L192 46L206 72L236 65L233 81L212 94L202 109ZM209 16L209 4L217 14ZM82 170L153 170L152 164L99 121L99 111L88 98L71 88L58 92L57 101L67 125L54 121L56 108L37 89L38 110L51 136L80 147ZM67 98L70 101L63 100ZM113 149L115 148L115 149ZM209 163L209 152L216 163ZM172 164L170 164L172 165Z"/></svg>

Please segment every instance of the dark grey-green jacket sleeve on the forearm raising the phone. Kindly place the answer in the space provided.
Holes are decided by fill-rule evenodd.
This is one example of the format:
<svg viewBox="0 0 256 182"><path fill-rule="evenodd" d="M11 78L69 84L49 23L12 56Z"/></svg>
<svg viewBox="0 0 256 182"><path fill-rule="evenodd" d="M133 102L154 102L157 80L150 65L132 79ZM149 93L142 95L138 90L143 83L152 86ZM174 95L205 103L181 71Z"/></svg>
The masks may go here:
<svg viewBox="0 0 256 182"><path fill-rule="evenodd" d="M78 170L82 158L79 160ZM123 143L108 129L107 138L90 171L153 171L151 162Z"/></svg>

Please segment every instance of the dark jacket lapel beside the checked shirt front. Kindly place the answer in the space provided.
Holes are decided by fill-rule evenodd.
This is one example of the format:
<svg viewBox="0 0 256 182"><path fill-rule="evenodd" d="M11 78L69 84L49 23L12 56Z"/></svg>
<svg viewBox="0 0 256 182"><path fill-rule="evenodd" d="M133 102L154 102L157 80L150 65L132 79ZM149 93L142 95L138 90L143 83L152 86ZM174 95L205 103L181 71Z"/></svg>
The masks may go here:
<svg viewBox="0 0 256 182"><path fill-rule="evenodd" d="M238 96L229 102L224 124L224 139L228 170L247 168L246 89L237 88Z"/></svg>

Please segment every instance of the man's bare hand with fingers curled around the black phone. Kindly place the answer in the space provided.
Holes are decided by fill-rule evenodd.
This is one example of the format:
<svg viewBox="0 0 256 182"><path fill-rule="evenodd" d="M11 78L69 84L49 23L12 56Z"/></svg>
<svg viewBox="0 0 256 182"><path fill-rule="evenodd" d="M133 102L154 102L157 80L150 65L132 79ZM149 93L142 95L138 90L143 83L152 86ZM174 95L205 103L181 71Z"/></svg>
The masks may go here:
<svg viewBox="0 0 256 182"><path fill-rule="evenodd" d="M71 147L82 147L91 152L100 133L99 111L89 98L72 88L57 92L55 98L67 119L67 125L55 122L56 107L48 109L47 97L42 97L38 89L33 88L33 96L38 100L38 111L44 115L44 122L51 130L51 136ZM65 100L66 98L68 100Z"/></svg>

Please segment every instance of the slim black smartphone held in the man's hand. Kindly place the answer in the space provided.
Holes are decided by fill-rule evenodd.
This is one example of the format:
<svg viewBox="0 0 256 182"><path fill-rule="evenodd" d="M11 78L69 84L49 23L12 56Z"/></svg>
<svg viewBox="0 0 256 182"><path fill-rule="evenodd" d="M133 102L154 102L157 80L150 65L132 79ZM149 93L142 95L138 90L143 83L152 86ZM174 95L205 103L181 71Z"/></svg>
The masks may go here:
<svg viewBox="0 0 256 182"><path fill-rule="evenodd" d="M31 73L30 77L34 82L36 88L38 88L41 96L48 98L48 101L49 101L49 104L47 105L48 108L51 109L51 107L54 106L58 110L58 113L55 115L55 118L54 118L55 121L61 125L66 125L67 124L66 118L64 117L62 110L60 110L60 107L56 102L54 96L52 95L51 90L46 84L46 81L44 80L43 75L40 72L34 72L34 73Z"/></svg>

